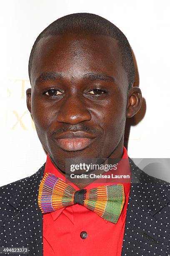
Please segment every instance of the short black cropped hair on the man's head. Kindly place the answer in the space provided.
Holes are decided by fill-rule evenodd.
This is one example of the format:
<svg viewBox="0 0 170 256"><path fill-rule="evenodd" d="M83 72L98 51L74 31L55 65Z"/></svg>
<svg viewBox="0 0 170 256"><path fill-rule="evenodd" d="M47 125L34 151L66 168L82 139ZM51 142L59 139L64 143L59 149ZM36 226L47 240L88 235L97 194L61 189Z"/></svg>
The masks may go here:
<svg viewBox="0 0 170 256"><path fill-rule="evenodd" d="M130 44L126 36L109 20L92 13L73 13L63 16L52 22L45 28L35 40L30 53L28 64L29 77L31 79L31 66L37 42L47 36L55 36L68 33L87 33L110 36L118 40L118 46L122 54L122 66L128 74L129 88L133 86L135 79L135 67Z"/></svg>

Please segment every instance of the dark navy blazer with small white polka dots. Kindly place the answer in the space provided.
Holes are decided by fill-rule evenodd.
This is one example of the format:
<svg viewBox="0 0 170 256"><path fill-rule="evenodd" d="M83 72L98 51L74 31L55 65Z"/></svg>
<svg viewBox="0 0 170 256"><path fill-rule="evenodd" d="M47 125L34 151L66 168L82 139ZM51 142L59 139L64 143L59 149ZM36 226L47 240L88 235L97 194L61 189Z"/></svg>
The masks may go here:
<svg viewBox="0 0 170 256"><path fill-rule="evenodd" d="M129 161L132 181L121 256L170 256L170 183ZM29 247L26 255L43 256L43 215L37 197L44 168L0 187L0 247Z"/></svg>

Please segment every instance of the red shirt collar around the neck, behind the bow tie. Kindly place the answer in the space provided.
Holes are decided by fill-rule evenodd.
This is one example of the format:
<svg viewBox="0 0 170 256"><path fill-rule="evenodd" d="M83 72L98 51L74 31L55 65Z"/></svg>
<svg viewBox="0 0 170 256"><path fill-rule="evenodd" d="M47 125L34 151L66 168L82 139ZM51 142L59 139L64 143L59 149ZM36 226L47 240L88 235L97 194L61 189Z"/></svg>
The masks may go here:
<svg viewBox="0 0 170 256"><path fill-rule="evenodd" d="M45 170L44 170L44 174L46 172L50 172L51 174L54 174L56 177L63 179L64 181L66 180L65 176L57 169L57 167L55 167L52 164L52 161L50 160L49 155L47 154L47 160L46 160L46 164L45 164ZM120 160L120 162L117 164L117 169L116 172L115 170L109 170L107 172L107 175L112 175L112 174L120 174L120 175L130 175L130 179L123 181L124 179L118 179L118 182L113 182L113 179L110 179L110 182L101 182L101 179L96 179L94 182L90 183L89 185L87 185L84 189L92 189L95 187L100 187L100 186L105 186L105 185L109 185L109 184L117 184L117 183L121 183L124 186L125 189L125 197L127 197L128 192L130 190L130 182L131 182L131 169L130 169L130 164L129 164L129 159L128 159L128 152L125 148L125 146L123 147L123 155L122 155L122 159ZM103 179L102 179L103 180ZM72 187L74 187L76 190L79 190L80 188L78 188L75 184L73 184L72 182L69 183ZM62 211L65 209L65 207L59 209L59 210L55 210L55 212L50 212L52 213L52 219L56 220L59 215L62 213ZM107 223L107 220L105 220L105 222Z"/></svg>

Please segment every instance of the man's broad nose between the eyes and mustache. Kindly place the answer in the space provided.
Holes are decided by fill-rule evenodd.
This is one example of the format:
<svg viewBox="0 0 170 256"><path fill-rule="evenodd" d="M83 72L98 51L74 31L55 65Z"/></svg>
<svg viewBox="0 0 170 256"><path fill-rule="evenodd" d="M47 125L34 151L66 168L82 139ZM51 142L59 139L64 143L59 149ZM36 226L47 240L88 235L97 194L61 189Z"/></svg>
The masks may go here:
<svg viewBox="0 0 170 256"><path fill-rule="evenodd" d="M70 96L60 105L60 110L57 114L58 122L76 125L89 120L91 120L91 115L82 99Z"/></svg>

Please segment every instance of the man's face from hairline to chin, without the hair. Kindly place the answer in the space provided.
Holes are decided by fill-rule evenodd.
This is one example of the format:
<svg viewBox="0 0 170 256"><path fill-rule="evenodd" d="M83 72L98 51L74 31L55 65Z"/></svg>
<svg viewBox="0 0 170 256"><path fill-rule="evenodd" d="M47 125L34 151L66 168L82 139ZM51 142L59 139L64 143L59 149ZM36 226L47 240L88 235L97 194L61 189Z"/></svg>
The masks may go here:
<svg viewBox="0 0 170 256"><path fill-rule="evenodd" d="M37 135L60 169L67 158L108 158L123 140L128 76L113 38L42 38L31 84L28 108Z"/></svg>

